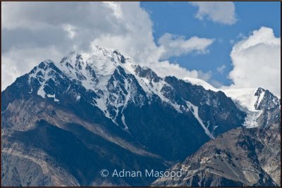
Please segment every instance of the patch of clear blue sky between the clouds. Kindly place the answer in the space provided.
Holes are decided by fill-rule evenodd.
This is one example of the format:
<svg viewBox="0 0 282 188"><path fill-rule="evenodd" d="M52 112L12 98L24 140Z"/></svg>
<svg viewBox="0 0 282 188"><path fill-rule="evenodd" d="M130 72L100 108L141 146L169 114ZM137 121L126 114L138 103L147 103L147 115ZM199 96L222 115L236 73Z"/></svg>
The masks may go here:
<svg viewBox="0 0 282 188"><path fill-rule="evenodd" d="M212 20L195 18L198 8L188 2L141 2L141 7L149 13L153 23L154 41L164 33L216 39L209 47L208 54L186 54L171 57L169 61L177 62L189 70L212 71L212 78L221 84L229 85L227 75L232 70L230 53L234 43L246 37L260 27L271 27L276 37L281 36L280 2L234 2L237 22L233 25L214 23ZM216 68L225 65L222 73Z"/></svg>

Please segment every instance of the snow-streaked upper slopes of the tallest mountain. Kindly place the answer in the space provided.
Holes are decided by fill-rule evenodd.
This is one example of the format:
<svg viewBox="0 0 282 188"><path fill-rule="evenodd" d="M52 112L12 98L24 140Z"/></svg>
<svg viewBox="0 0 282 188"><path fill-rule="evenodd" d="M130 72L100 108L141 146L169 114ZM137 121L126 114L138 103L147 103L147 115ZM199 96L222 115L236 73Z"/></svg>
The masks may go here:
<svg viewBox="0 0 282 188"><path fill-rule="evenodd" d="M54 66L59 69L58 73L54 72ZM56 94L50 88L59 86L60 79L66 80L64 77L84 87L86 92L92 92L92 99L87 99L90 104L97 106L107 118L126 131L129 130L123 111L128 103L132 102L135 106L141 107L145 104L149 105L156 99L162 104L171 106L178 113L192 113L207 136L212 139L216 135L216 128L219 127L216 120L201 117L204 116L205 111L200 106L218 106L219 96L216 95L220 94L206 92L198 87L199 89L196 89L199 90L198 94L202 90L207 99L199 102L188 100L187 94L180 96L176 91L178 88L174 88L173 80L177 80L175 77L158 77L153 70L140 67L114 49L95 46L91 54L81 55L71 52L60 63L44 61L32 70L29 82L31 86L33 82L39 82L39 89L35 88L39 96L44 99L53 98L59 103L60 99L58 97L57 99L56 95L60 94ZM176 87L179 87L178 85ZM68 92L68 89L63 92ZM32 87L31 92L33 92ZM179 96L172 96L173 94ZM81 96L78 93L73 98L80 100Z"/></svg>

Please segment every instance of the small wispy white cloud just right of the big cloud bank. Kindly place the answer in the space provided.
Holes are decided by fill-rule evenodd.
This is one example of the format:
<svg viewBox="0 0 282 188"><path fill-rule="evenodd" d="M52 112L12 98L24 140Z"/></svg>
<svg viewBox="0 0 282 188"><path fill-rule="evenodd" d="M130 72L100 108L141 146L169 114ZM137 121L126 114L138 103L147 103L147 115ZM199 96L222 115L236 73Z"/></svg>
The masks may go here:
<svg viewBox="0 0 282 188"><path fill-rule="evenodd" d="M214 39L206 39L199 37L191 37L185 39L183 36L164 34L159 38L159 45L161 48L161 58L168 58L171 56L180 56L196 52L198 54L207 53L207 47L214 42Z"/></svg>

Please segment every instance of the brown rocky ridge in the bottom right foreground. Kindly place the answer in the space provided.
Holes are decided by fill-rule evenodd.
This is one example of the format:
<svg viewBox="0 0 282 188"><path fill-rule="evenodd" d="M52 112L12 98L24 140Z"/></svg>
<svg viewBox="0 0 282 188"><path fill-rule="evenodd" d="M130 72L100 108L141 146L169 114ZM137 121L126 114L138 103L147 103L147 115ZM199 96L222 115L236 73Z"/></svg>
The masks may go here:
<svg viewBox="0 0 282 188"><path fill-rule="evenodd" d="M243 127L219 135L170 168L181 177L161 177L153 186L280 186L281 126Z"/></svg>

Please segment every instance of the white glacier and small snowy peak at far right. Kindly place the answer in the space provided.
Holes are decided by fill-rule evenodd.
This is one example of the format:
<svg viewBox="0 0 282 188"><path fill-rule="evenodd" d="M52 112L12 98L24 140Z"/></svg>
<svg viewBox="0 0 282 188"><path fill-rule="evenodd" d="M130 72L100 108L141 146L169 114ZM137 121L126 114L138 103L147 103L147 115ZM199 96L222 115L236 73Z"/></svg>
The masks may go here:
<svg viewBox="0 0 282 188"><path fill-rule="evenodd" d="M251 127L266 127L270 125L271 119L278 118L278 111L281 109L281 104L277 96L269 92L267 89L259 88L240 88L240 89L216 89L211 84L192 77L185 77L185 82L190 82L195 85L201 85L204 89L212 90L214 92L223 92L226 96L231 97L236 106L244 111L247 116L245 118L244 126ZM268 120L261 119L266 115L266 111L275 111L275 115L267 114ZM271 117L273 116L273 117Z"/></svg>

